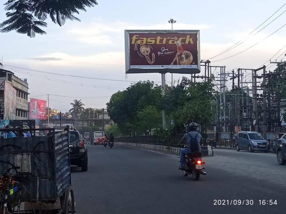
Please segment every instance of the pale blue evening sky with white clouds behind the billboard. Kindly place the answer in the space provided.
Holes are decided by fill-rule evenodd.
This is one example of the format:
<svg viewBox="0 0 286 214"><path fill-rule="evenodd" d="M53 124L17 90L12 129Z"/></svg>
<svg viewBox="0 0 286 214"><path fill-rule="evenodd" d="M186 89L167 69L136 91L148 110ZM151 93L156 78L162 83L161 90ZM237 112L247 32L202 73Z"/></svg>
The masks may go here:
<svg viewBox="0 0 286 214"><path fill-rule="evenodd" d="M120 80L59 76L4 67L19 78L27 78L30 98L46 100L47 94L51 94L51 108L65 112L71 108L74 99L82 99L85 107L105 108L113 93L124 90L132 82L150 80L161 84L159 73L125 75L125 29L171 29L168 20L173 18L177 21L173 25L175 30L200 30L201 59L216 56L246 37L249 39L241 45L210 59L211 65L226 66L226 71L239 67L255 69L264 63L268 65L281 48L273 61L286 51L286 46L283 48L286 45L286 5L282 7L285 3L285 0L276 0L275 4L265 0L183 0L179 3L170 0L98 0L97 6L76 15L81 22L66 21L61 27L48 20L48 27L44 29L46 35L29 38L16 32L1 33L0 57L3 57L3 64L32 70ZM248 36L280 7L251 37ZM4 6L0 10L0 21L4 21ZM244 52L238 54L241 51ZM224 59L235 54L238 55ZM224 60L213 62L220 59ZM217 75L218 71L212 68L213 74ZM182 76L174 74L174 79ZM166 81L171 81L171 74L166 75ZM227 85L230 84L228 79Z"/></svg>

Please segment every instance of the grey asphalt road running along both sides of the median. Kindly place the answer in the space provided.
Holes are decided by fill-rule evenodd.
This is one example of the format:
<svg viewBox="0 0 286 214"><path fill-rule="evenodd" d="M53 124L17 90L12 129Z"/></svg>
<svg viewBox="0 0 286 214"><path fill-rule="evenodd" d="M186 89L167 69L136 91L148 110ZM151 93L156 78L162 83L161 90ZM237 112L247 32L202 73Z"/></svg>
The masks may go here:
<svg viewBox="0 0 286 214"><path fill-rule="evenodd" d="M88 171L72 168L78 214L269 214L283 213L286 208L286 185L279 185L278 179L283 176L285 181L281 171L285 172L286 166L278 166L274 154L215 150L214 157L204 158L207 175L194 181L191 176L182 175L178 158L173 155L118 145L113 149L88 145L88 149ZM241 163L245 169L234 163ZM263 169L256 171L256 177L249 175L252 164L258 163L258 168L275 167L279 175L264 179L264 174L259 174ZM248 199L254 204L213 205L219 199L229 203ZM260 199L277 200L278 205L259 205Z"/></svg>

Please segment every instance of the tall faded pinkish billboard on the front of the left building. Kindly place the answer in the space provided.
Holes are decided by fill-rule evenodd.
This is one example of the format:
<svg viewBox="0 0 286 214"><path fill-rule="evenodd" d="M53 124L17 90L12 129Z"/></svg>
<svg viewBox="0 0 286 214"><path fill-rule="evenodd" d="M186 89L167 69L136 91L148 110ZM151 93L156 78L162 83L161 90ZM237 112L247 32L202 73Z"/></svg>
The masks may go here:
<svg viewBox="0 0 286 214"><path fill-rule="evenodd" d="M16 89L4 81L4 119L16 119Z"/></svg>

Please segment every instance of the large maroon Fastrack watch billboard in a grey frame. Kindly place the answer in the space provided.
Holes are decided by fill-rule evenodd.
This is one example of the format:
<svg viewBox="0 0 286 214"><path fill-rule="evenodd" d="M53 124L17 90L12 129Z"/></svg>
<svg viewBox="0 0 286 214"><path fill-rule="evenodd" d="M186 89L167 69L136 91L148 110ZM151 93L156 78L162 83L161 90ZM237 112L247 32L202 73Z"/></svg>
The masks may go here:
<svg viewBox="0 0 286 214"><path fill-rule="evenodd" d="M126 73L199 73L199 30L125 30Z"/></svg>

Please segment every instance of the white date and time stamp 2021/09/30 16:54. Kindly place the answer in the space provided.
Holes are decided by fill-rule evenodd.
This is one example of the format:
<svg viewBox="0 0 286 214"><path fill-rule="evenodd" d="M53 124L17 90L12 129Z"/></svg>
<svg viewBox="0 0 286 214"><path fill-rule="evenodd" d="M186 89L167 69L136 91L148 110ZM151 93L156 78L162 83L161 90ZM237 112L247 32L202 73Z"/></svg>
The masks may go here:
<svg viewBox="0 0 286 214"><path fill-rule="evenodd" d="M259 205L277 205L277 200L258 200ZM213 205L254 205L254 200L238 199L238 200L213 200Z"/></svg>

